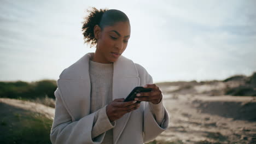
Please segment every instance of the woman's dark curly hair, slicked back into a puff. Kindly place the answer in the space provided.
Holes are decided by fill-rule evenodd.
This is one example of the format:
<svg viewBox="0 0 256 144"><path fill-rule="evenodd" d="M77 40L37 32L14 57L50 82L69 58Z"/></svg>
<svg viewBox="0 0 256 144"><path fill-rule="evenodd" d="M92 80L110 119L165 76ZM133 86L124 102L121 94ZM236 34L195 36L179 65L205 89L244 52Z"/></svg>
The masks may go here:
<svg viewBox="0 0 256 144"><path fill-rule="evenodd" d="M89 16L84 17L82 31L84 35L84 43L90 44L90 47L97 44L97 39L94 35L95 25L100 26L102 31L104 27L113 26L116 22L129 21L129 18L125 13L116 9L98 10L93 7L92 10L87 11L89 12Z"/></svg>

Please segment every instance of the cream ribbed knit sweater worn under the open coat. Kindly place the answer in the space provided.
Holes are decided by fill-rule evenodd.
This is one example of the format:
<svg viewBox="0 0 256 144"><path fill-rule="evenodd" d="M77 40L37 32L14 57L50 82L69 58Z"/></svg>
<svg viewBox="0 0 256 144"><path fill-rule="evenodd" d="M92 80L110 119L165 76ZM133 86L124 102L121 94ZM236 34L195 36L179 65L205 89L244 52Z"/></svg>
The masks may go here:
<svg viewBox="0 0 256 144"><path fill-rule="evenodd" d="M92 140L106 131L102 143L113 143L113 128L115 122L110 123L106 106L112 102L113 63L103 64L90 60L89 74L91 81L91 110L96 111L94 124L92 125ZM160 125L164 119L164 107L162 101L159 104L149 103L150 109Z"/></svg>

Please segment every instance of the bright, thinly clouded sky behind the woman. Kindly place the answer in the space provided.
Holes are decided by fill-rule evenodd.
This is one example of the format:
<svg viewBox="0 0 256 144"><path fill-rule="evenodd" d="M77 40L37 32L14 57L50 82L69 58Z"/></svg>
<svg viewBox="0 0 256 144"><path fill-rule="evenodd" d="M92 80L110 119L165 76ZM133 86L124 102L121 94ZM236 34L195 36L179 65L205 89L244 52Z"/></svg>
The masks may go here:
<svg viewBox="0 0 256 144"><path fill-rule="evenodd" d="M0 81L57 80L87 52L90 7L130 19L123 55L154 82L223 80L256 71L256 1L0 1Z"/></svg>

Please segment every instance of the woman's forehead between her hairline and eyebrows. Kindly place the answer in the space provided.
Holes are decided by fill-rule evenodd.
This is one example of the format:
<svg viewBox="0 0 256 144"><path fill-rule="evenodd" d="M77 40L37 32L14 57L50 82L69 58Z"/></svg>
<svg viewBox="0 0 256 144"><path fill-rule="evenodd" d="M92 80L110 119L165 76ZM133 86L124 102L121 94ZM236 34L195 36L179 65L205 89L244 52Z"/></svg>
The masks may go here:
<svg viewBox="0 0 256 144"><path fill-rule="evenodd" d="M117 31L123 36L130 35L131 33L130 22L117 22L113 26L104 27L103 31L104 32Z"/></svg>

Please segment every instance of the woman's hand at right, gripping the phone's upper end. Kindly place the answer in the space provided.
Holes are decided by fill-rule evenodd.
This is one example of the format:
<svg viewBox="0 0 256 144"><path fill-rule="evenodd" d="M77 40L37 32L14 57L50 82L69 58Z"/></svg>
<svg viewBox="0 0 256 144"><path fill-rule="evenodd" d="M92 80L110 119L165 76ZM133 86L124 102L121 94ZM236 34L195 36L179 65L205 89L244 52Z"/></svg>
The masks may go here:
<svg viewBox="0 0 256 144"><path fill-rule="evenodd" d="M146 85L144 88L152 88L152 92L142 92L138 93L135 98L135 100L138 101L149 101L153 104L158 104L162 100L162 92L160 91L159 87L155 84L152 85Z"/></svg>

